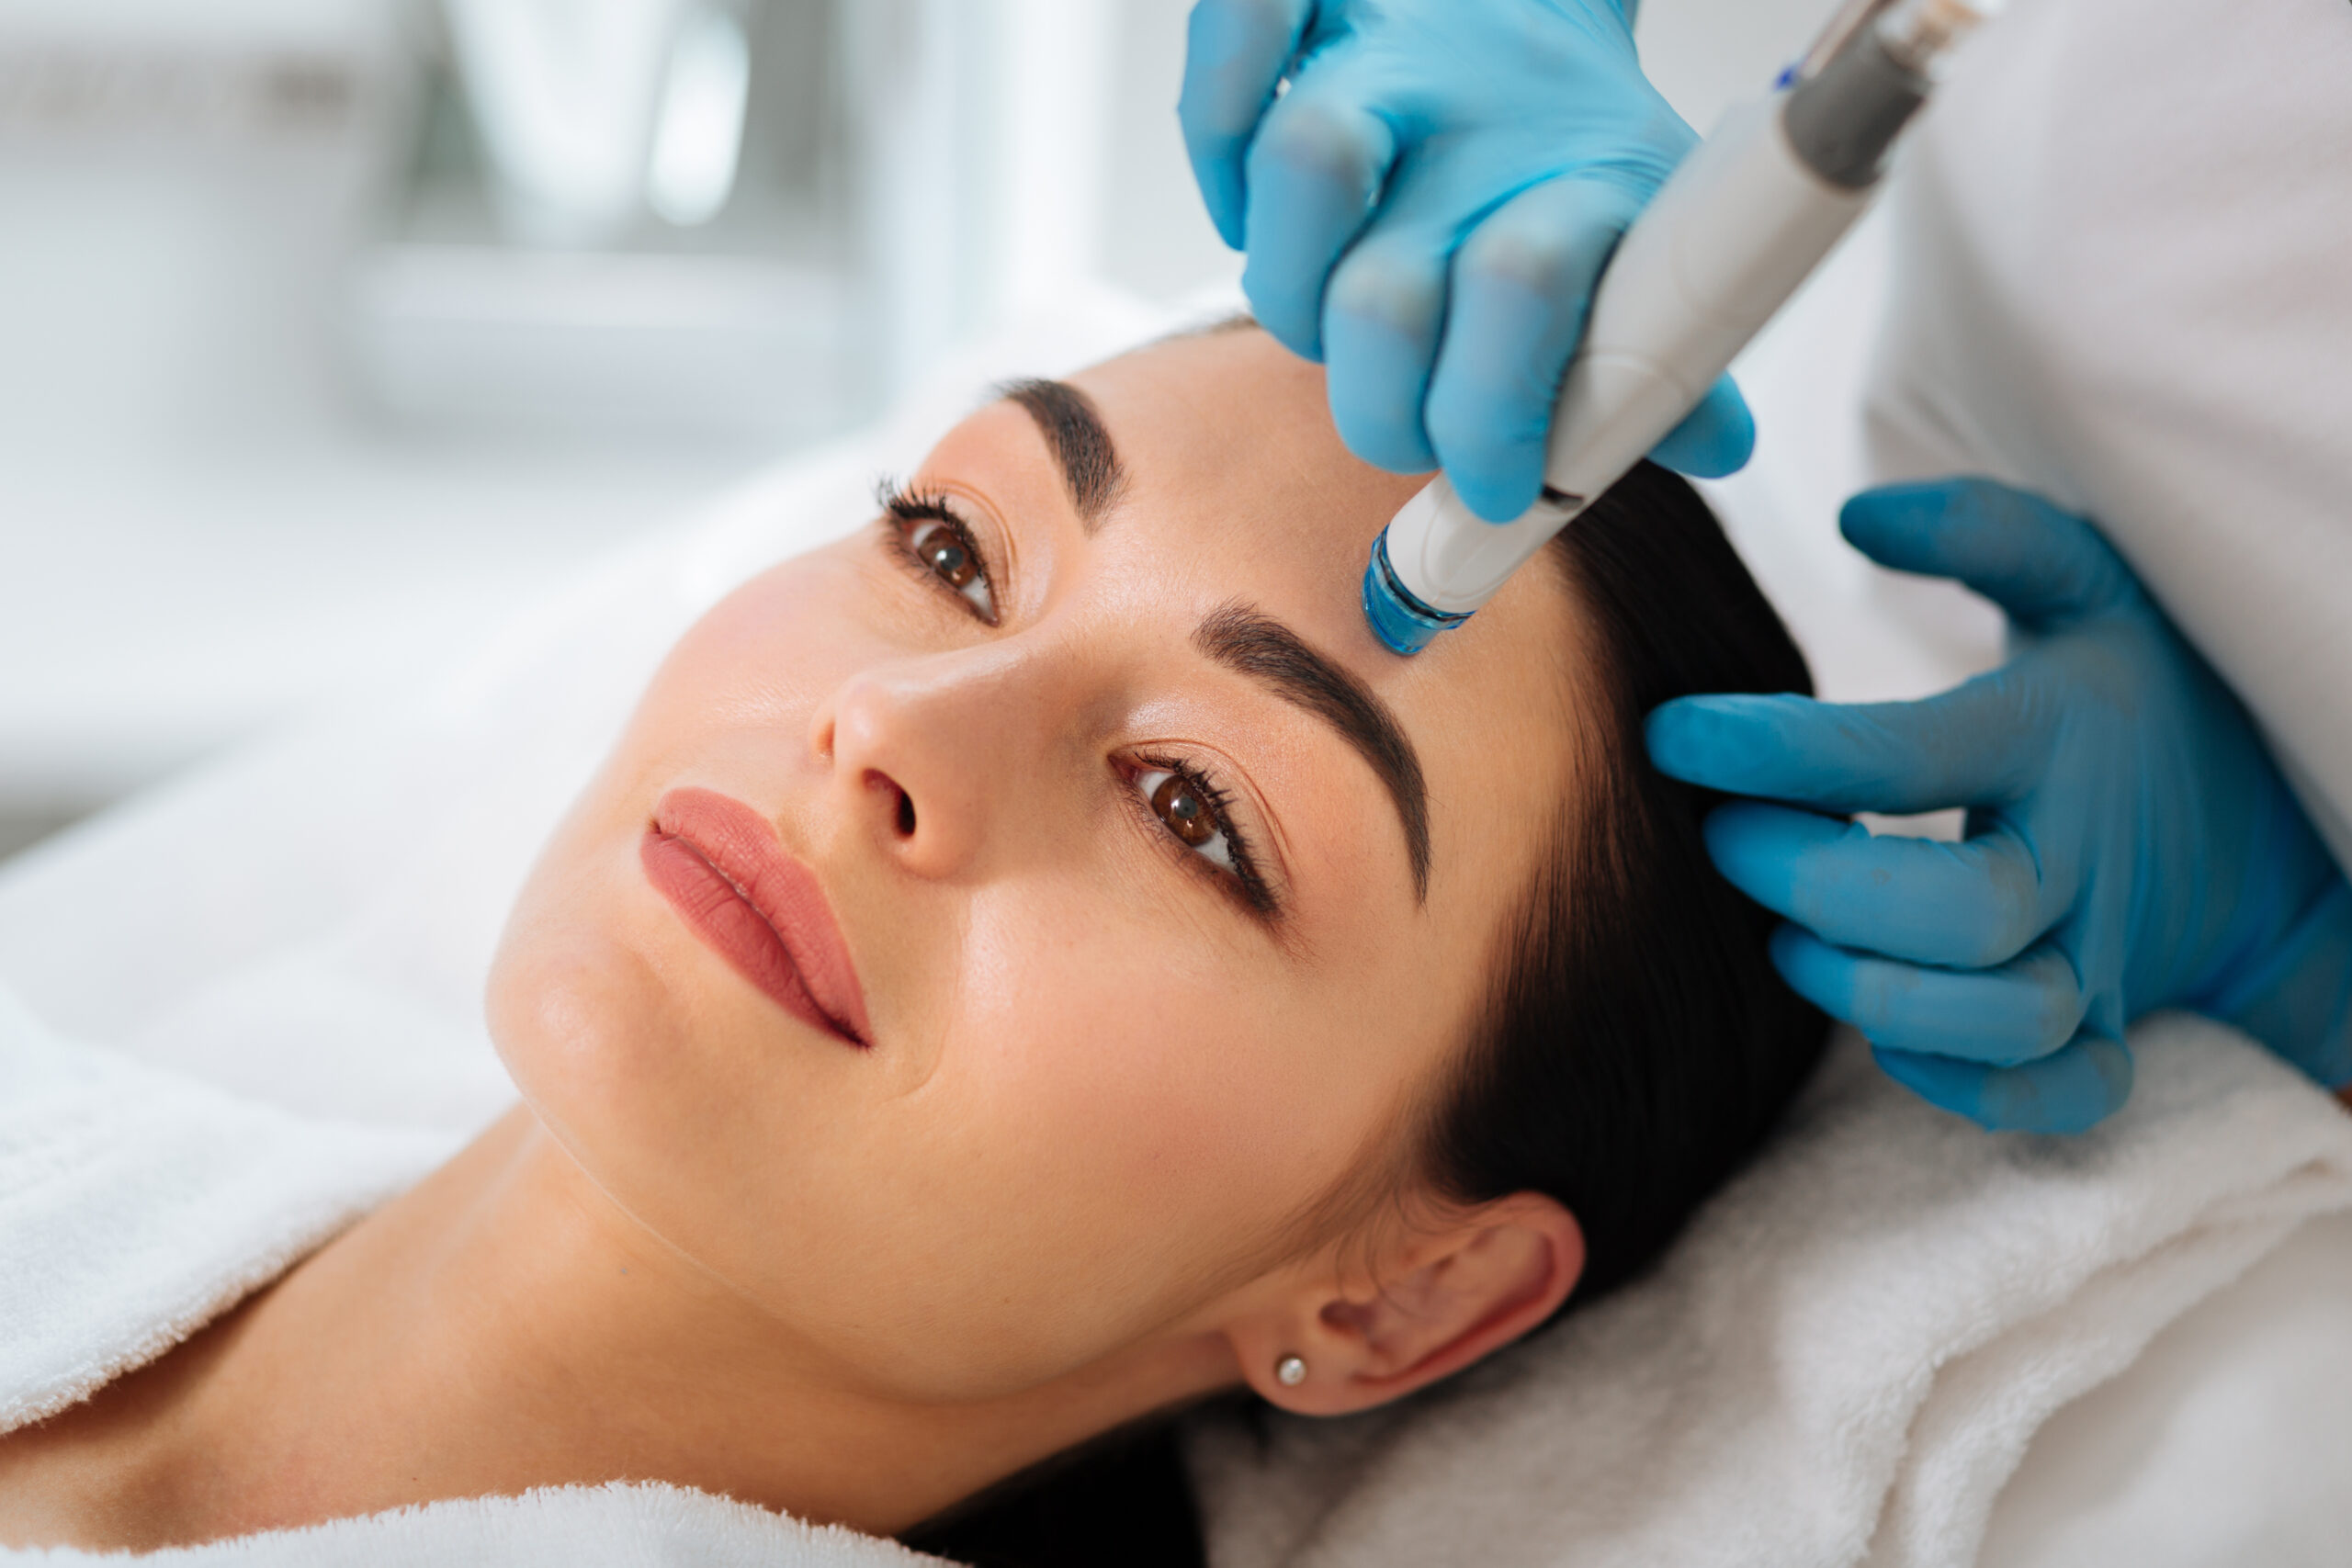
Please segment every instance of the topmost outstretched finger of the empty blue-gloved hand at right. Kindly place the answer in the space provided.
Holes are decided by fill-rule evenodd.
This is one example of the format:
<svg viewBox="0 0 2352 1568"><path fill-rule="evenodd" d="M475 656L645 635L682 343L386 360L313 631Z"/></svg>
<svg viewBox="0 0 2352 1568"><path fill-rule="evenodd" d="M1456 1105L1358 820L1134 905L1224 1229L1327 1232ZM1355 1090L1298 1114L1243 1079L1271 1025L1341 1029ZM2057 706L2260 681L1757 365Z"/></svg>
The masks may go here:
<svg viewBox="0 0 2352 1568"><path fill-rule="evenodd" d="M1957 578L2027 628L2140 597L2138 578L2098 529L1992 480L1867 489L1846 501L1839 529L1882 567Z"/></svg>

